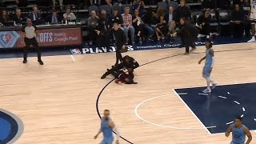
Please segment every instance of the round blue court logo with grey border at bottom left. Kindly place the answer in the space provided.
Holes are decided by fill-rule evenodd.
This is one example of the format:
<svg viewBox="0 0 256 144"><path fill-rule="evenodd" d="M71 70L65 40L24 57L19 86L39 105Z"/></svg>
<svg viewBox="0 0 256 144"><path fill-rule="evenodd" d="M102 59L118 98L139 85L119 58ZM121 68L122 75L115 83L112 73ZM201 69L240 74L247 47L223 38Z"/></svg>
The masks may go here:
<svg viewBox="0 0 256 144"><path fill-rule="evenodd" d="M23 130L23 123L16 115L0 109L0 144L14 143Z"/></svg>

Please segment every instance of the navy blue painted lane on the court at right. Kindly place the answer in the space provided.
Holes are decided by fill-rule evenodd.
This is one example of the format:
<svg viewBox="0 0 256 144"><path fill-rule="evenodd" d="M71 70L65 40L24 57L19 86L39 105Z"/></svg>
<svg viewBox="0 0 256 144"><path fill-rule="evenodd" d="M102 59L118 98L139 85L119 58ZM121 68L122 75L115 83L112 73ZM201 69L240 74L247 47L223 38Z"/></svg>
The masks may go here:
<svg viewBox="0 0 256 144"><path fill-rule="evenodd" d="M211 134L224 133L237 116L243 116L244 125L256 130L256 83L217 86L208 96L202 95L205 88L175 91L204 126L216 126L208 128Z"/></svg>

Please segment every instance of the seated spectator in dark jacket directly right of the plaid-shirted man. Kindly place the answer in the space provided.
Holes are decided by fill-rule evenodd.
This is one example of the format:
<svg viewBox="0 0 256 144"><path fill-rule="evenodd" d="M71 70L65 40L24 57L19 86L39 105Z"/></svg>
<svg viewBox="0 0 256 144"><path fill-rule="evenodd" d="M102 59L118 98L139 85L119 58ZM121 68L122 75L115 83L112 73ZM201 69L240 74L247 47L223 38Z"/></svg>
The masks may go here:
<svg viewBox="0 0 256 144"><path fill-rule="evenodd" d="M139 11L134 10L134 16L133 16L133 26L135 29L135 34L137 34L139 38L139 42L142 42L142 37L144 37L145 34L145 25L142 21L142 18L139 17Z"/></svg>

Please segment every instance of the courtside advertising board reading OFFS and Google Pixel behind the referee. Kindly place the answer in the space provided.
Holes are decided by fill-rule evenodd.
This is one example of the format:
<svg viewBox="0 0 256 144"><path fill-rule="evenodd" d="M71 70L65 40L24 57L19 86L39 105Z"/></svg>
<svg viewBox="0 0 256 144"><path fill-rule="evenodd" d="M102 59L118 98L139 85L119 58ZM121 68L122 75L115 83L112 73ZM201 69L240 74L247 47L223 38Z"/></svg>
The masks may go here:
<svg viewBox="0 0 256 144"><path fill-rule="evenodd" d="M80 27L38 30L39 46L76 46L82 44ZM25 46L22 31L0 31L0 48Z"/></svg>

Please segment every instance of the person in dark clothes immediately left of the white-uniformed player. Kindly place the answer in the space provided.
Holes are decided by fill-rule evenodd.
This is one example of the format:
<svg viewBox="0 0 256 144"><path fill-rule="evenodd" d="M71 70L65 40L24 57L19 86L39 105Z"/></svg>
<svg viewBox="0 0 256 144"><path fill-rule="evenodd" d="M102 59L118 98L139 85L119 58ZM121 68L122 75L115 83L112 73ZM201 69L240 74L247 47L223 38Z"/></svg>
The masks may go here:
<svg viewBox="0 0 256 144"><path fill-rule="evenodd" d="M244 30L246 32L246 37L250 37L250 2L249 0L244 0L241 4L241 8L244 14L244 21L243 21L243 26Z"/></svg>

